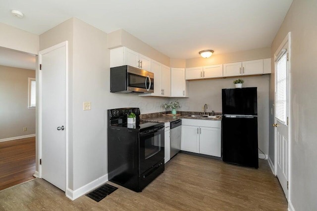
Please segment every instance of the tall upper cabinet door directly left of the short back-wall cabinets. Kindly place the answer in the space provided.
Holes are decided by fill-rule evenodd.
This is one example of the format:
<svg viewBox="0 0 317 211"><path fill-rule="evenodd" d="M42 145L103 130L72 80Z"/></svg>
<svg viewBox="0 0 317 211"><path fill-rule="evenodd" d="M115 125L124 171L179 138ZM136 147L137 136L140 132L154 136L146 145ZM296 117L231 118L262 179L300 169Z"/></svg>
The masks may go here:
<svg viewBox="0 0 317 211"><path fill-rule="evenodd" d="M185 97L185 68L171 69L171 96Z"/></svg>

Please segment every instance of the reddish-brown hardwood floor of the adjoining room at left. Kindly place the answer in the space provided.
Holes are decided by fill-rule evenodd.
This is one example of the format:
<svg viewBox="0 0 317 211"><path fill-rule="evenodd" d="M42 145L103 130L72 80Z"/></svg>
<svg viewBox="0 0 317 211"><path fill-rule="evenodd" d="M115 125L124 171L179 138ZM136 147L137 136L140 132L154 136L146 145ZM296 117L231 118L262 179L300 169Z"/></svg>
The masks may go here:
<svg viewBox="0 0 317 211"><path fill-rule="evenodd" d="M0 142L0 190L34 179L35 137Z"/></svg>

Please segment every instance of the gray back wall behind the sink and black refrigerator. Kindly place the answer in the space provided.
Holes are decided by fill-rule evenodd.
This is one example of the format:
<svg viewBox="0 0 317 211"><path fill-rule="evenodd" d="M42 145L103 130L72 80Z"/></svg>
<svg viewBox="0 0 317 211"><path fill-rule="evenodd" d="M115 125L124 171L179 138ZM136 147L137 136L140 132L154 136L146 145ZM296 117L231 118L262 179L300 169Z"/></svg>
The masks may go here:
<svg viewBox="0 0 317 211"><path fill-rule="evenodd" d="M258 87L259 148L266 155L268 154L268 78L269 75L243 78L245 81L243 87ZM182 105L180 110L200 112L207 103L207 112L212 110L222 112L221 89L233 88L232 82L236 79L238 78L189 81L189 98L178 98ZM259 151L259 153L261 152Z"/></svg>

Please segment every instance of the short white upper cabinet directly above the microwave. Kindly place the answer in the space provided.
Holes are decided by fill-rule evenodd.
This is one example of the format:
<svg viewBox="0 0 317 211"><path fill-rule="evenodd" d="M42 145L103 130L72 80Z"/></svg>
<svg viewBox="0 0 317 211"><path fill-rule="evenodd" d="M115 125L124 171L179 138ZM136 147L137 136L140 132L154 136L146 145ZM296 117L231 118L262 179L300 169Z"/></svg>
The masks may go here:
<svg viewBox="0 0 317 211"><path fill-rule="evenodd" d="M130 65L146 71L151 71L151 59L127 47L117 47L110 50L110 67Z"/></svg>

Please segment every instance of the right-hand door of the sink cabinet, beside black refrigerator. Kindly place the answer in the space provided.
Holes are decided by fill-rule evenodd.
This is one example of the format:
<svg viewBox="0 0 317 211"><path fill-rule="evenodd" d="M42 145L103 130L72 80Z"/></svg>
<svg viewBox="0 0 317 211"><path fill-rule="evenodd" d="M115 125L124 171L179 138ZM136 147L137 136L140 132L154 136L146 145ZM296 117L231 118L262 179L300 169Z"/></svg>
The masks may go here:
<svg viewBox="0 0 317 211"><path fill-rule="evenodd" d="M214 127L199 128L199 153L221 157L221 130Z"/></svg>

